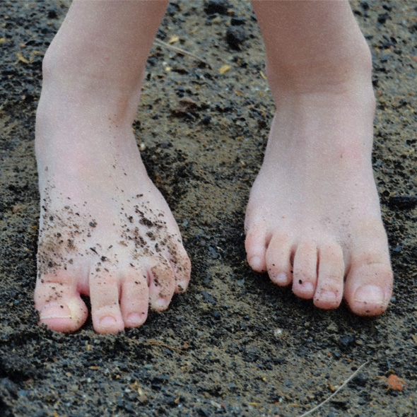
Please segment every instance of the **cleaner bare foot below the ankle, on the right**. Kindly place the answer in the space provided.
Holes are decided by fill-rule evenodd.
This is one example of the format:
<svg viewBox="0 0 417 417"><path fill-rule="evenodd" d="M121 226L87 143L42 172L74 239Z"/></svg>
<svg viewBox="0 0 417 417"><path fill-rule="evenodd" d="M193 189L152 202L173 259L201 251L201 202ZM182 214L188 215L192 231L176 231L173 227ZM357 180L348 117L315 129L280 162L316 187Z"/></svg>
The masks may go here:
<svg viewBox="0 0 417 417"><path fill-rule="evenodd" d="M247 206L247 260L278 286L334 309L380 315L392 293L372 175L374 100L350 86L282 97Z"/></svg>

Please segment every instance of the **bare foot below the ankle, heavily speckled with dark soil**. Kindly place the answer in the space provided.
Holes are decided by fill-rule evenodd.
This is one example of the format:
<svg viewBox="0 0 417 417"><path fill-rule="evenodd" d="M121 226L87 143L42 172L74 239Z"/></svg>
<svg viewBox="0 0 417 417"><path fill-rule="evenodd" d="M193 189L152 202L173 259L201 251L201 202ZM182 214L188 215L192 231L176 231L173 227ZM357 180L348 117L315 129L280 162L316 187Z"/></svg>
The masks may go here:
<svg viewBox="0 0 417 417"><path fill-rule="evenodd" d="M146 175L131 125L98 103L74 109L63 101L44 83L36 138L40 324L81 327L88 316L83 294L90 296L95 331L138 327L148 303L165 310L174 293L186 290L189 258Z"/></svg>

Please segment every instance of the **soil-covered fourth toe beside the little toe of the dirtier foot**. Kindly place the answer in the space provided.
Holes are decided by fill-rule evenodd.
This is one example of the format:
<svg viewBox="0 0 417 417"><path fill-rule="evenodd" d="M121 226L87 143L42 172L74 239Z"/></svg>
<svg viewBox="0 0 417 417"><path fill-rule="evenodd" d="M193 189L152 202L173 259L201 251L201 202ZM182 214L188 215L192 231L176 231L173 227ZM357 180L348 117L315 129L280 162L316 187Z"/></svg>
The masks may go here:
<svg viewBox="0 0 417 417"><path fill-rule="evenodd" d="M175 292L175 273L170 262L161 256L148 269L149 304L153 310L163 311L168 308Z"/></svg>

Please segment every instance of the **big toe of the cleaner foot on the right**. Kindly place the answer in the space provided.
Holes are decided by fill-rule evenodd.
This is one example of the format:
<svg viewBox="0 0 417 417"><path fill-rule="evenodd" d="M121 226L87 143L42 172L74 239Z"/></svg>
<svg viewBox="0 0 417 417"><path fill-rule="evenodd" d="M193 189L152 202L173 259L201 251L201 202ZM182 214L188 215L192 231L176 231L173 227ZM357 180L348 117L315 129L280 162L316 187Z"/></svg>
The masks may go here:
<svg viewBox="0 0 417 417"><path fill-rule="evenodd" d="M346 278L345 298L353 313L377 316L385 310L392 295L392 269L388 263L355 267Z"/></svg>

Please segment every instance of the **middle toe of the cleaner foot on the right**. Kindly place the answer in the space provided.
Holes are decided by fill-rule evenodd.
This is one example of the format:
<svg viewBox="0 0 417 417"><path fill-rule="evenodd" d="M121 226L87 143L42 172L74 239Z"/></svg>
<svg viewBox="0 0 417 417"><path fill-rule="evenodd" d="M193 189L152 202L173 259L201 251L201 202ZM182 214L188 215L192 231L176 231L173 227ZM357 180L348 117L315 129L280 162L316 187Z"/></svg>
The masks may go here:
<svg viewBox="0 0 417 417"><path fill-rule="evenodd" d="M293 262L293 292L300 298L313 298L317 286L317 245L300 242Z"/></svg>

